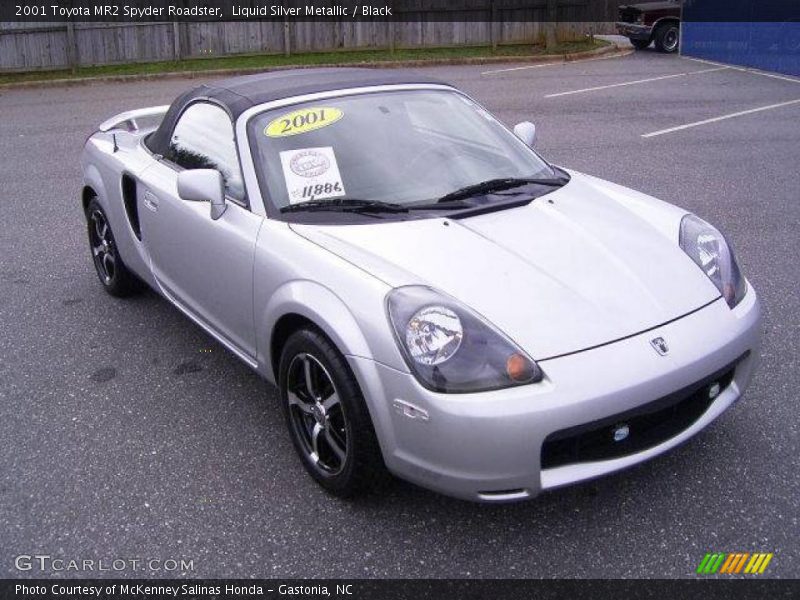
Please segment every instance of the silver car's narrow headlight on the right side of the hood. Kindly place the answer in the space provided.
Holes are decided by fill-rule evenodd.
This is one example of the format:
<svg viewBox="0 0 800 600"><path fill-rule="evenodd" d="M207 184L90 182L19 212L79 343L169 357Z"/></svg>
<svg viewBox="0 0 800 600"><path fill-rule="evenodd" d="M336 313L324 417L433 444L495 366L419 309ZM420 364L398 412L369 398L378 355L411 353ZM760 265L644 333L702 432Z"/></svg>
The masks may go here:
<svg viewBox="0 0 800 600"><path fill-rule="evenodd" d="M703 219L686 215L681 221L680 245L717 286L728 306L739 304L747 284L725 236Z"/></svg>

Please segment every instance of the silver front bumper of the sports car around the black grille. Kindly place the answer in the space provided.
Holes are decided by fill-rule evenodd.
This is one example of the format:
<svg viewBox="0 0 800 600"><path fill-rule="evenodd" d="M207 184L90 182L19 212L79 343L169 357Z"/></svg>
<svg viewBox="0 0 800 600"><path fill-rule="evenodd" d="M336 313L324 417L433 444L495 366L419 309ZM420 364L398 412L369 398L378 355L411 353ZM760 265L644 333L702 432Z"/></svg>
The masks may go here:
<svg viewBox="0 0 800 600"><path fill-rule="evenodd" d="M760 345L752 287L734 309L721 298L667 325L599 348L541 361L538 384L479 394L439 394L409 373L349 357L387 467L401 478L481 502L536 496L648 460L686 441L743 393ZM651 340L663 337L669 353ZM605 422L674 394L735 364L721 393L688 426L623 456L541 468L551 434ZM613 419L612 419L613 420ZM631 428L631 437L635 431Z"/></svg>

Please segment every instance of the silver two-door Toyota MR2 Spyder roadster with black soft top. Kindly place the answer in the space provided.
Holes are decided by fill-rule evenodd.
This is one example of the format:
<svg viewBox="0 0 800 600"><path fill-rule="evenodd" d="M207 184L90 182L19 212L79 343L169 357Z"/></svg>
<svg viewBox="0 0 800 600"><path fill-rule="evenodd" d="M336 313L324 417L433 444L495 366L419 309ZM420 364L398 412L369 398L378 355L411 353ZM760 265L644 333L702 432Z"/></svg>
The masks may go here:
<svg viewBox="0 0 800 600"><path fill-rule="evenodd" d="M692 437L760 340L717 229L534 137L399 71L202 85L87 140L94 265L277 384L329 492L531 498Z"/></svg>

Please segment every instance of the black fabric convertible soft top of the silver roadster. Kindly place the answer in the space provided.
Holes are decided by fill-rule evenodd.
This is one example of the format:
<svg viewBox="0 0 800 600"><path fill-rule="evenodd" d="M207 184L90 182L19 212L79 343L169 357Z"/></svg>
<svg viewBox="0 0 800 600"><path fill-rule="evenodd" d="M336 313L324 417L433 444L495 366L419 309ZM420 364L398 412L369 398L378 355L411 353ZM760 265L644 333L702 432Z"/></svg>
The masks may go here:
<svg viewBox="0 0 800 600"><path fill-rule="evenodd" d="M213 100L235 121L250 107L264 102L352 87L402 83L444 82L402 70L319 68L271 71L207 83L175 99L161 125L148 136L147 146L156 154L166 154L175 123L186 106L197 100Z"/></svg>

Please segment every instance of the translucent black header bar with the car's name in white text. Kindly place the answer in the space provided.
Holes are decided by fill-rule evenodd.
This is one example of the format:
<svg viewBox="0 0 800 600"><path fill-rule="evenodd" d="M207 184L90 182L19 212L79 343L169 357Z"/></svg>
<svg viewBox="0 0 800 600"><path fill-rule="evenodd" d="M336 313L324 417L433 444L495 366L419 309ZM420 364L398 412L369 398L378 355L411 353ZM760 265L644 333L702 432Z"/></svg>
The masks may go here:
<svg viewBox="0 0 800 600"><path fill-rule="evenodd" d="M652 0L649 0L652 2ZM0 22L610 22L648 0L3 0ZM797 0L669 0L684 21L798 22ZM663 6L662 6L663 8ZM3 28L5 29L5 28Z"/></svg>

